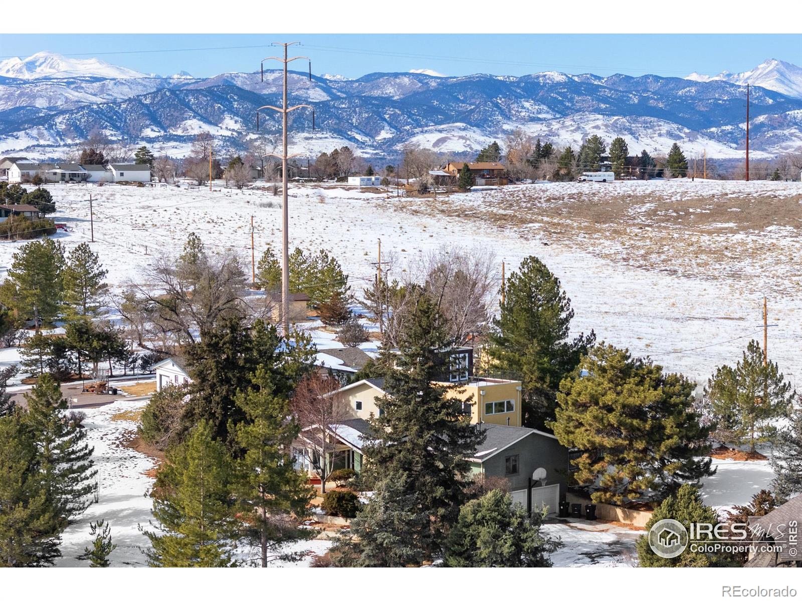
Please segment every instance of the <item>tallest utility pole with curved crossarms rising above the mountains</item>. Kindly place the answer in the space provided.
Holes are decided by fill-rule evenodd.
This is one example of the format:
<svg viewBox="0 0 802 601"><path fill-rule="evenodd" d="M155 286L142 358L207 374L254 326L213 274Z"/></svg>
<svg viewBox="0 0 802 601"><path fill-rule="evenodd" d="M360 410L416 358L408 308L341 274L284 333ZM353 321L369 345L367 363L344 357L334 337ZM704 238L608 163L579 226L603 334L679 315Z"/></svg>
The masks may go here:
<svg viewBox="0 0 802 601"><path fill-rule="evenodd" d="M257 131L259 129L259 111L264 108L269 108L272 111L276 111L282 114L282 154L277 155L273 152L269 152L265 156L274 156L277 159L282 159L282 324L284 325L284 335L290 336L290 236L288 232L288 228L290 225L290 211L287 206L287 159L292 159L295 156L299 156L301 153L296 153L294 155L287 155L287 115L298 108L308 108L312 109L308 104L297 104L294 107L287 106L287 65L294 60L298 60L298 58L306 58L306 60L310 60L308 56L294 56L289 58L287 56L287 49L290 46L294 46L300 42L273 42L271 46L284 46L284 58L280 56L269 56L267 58L261 59L262 64L262 78L264 78L264 64L267 60L274 60L278 61L279 63L284 63L284 91L282 94L282 107L273 107L272 105L266 104L264 107L259 107L256 110L256 127ZM311 66L310 66L311 71ZM311 76L310 76L311 79ZM264 79L263 79L264 80ZM313 123L314 123L314 110L312 113Z"/></svg>

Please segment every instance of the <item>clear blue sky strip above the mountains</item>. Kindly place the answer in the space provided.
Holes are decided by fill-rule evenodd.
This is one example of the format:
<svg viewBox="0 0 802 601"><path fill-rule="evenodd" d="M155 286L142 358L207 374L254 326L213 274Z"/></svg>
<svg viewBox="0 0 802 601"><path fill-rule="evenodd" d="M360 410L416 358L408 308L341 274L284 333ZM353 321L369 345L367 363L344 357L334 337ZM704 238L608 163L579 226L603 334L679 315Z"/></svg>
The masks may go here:
<svg viewBox="0 0 802 601"><path fill-rule="evenodd" d="M295 40L306 46L296 54L310 55L314 74L346 77L411 69L444 75L564 71L682 77L692 71L747 71L767 58L802 66L802 35L790 34L2 34L0 56L25 58L51 50L75 58L98 56L144 73L207 77L257 71L260 59L273 54L258 46Z"/></svg>

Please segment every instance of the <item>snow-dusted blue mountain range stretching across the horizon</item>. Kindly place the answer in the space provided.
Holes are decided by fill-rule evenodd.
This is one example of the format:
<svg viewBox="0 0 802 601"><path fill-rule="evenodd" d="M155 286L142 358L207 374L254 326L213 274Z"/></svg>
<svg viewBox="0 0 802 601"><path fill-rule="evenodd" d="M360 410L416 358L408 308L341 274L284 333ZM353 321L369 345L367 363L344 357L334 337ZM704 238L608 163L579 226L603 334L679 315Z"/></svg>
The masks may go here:
<svg viewBox="0 0 802 601"><path fill-rule="evenodd" d="M751 94L755 158L802 150L802 69L771 60L743 74L686 79L476 74L448 77L426 69L358 79L290 74L292 102L315 110L291 115L292 151L316 155L348 144L365 156L396 155L407 143L458 155L516 127L576 147L591 134L621 135L631 153L665 153L678 142L689 155L743 155L743 85ZM210 131L241 150L278 131L255 111L280 103L280 71L196 78L144 75L96 58L38 53L0 63L0 155L57 157L93 130L157 152L186 154L192 136Z"/></svg>

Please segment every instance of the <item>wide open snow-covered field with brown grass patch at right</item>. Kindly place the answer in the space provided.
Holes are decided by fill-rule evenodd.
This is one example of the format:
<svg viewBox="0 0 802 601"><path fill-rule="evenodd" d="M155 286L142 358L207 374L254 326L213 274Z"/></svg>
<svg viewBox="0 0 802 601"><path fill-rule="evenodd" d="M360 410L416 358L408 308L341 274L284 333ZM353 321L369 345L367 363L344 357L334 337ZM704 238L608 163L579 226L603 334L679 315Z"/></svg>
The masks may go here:
<svg viewBox="0 0 802 601"><path fill-rule="evenodd" d="M232 248L250 261L254 216L257 259L281 240L281 196L268 189L48 187L59 234L70 248L90 237L112 284L137 279L160 252L180 252L188 232L212 251ZM704 383L735 362L762 332L768 296L769 356L796 383L802 369L802 223L798 182L625 181L533 184L438 199L396 200L330 184L290 188L290 244L326 248L359 291L375 273L377 239L395 252L402 277L410 262L442 244L489 249L507 272L536 255L560 277L573 304L573 329L650 354L667 369ZM389 197L388 197L389 196ZM0 277L20 242L0 243Z"/></svg>

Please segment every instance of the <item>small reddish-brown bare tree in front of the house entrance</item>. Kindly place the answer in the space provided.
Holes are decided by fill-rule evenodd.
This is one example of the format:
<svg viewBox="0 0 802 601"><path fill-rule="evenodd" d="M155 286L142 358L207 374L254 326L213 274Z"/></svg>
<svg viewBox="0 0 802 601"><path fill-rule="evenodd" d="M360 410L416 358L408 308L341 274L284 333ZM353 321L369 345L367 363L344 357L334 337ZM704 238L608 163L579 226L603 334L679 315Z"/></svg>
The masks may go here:
<svg viewBox="0 0 802 601"><path fill-rule="evenodd" d="M290 403L290 410L298 418L302 430L296 447L310 462L326 492L326 479L332 471L336 442L331 433L342 428L350 417L350 409L336 378L311 373L298 382Z"/></svg>

